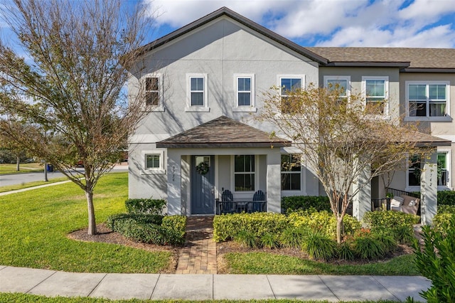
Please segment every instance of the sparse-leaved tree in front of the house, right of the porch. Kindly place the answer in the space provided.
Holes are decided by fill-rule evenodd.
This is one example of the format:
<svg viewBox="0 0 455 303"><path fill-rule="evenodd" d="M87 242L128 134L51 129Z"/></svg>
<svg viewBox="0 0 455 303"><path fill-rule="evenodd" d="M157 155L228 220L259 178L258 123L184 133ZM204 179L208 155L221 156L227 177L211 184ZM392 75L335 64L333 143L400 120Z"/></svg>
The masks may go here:
<svg viewBox="0 0 455 303"><path fill-rule="evenodd" d="M363 184L354 186L358 178L371 171L366 174L366 184L407 163L408 154L422 152L408 140L416 132L413 127L378 115L386 102L365 106L361 95L346 98L338 85L309 85L285 94L272 87L264 93L264 107L257 119L273 124L279 130L277 135L291 139L306 166L318 177L337 219L338 243L346 210L363 188Z"/></svg>

